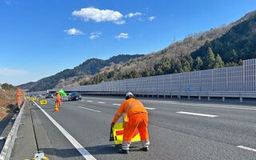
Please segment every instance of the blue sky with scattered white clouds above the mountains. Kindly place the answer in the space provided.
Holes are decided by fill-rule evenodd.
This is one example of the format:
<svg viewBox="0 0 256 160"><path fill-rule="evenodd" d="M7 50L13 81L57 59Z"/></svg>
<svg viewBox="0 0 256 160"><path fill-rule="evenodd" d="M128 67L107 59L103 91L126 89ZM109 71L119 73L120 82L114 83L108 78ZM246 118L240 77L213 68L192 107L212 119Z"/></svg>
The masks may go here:
<svg viewBox="0 0 256 160"><path fill-rule="evenodd" d="M0 83L149 54L255 9L255 0L0 0Z"/></svg>

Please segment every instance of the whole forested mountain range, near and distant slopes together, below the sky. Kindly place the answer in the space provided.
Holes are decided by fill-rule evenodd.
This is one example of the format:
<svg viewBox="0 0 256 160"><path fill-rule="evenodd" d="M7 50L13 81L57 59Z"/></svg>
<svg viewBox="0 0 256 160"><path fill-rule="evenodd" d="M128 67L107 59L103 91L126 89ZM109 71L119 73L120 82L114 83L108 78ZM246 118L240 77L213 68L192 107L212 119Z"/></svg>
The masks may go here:
<svg viewBox="0 0 256 160"><path fill-rule="evenodd" d="M73 70L63 70L21 87L46 90L58 86L61 79L66 79L65 86L90 85L102 81L239 66L243 59L256 58L256 11L228 26L223 25L191 34L179 42L174 41L158 52L126 56L119 55L106 61L93 58Z"/></svg>

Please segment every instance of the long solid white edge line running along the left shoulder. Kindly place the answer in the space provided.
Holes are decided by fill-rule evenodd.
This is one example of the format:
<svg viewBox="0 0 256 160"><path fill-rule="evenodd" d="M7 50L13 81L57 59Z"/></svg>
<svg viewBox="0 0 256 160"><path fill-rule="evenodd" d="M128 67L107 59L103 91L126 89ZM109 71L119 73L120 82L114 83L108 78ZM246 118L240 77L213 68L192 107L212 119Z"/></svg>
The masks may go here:
<svg viewBox="0 0 256 160"><path fill-rule="evenodd" d="M36 106L38 106L38 108L40 110L42 110L42 113L46 114L46 117L50 119L51 122L54 123L54 125L58 128L58 130L60 130L62 132L62 134L71 142L71 144L78 150L78 152L80 154L82 154L83 158L86 158L86 160L96 160L96 158L94 158L94 156L92 156L77 140L75 140L73 138L72 135L70 135L62 126L60 126L58 124L58 122L56 122L54 120L54 118L52 118L49 114L46 113L45 110L43 110L41 108L41 106L39 106L36 102L34 102L34 104Z"/></svg>

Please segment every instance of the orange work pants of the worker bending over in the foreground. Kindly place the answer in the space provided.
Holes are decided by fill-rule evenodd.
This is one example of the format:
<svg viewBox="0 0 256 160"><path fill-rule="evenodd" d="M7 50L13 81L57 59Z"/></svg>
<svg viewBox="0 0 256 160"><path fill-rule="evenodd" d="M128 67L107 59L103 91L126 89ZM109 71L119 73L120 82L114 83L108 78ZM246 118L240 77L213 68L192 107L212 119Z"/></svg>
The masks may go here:
<svg viewBox="0 0 256 160"><path fill-rule="evenodd" d="M147 114L133 114L129 117L129 122L127 127L123 130L123 143L130 143L134 136L136 128L141 136L142 141L148 141L149 134L147 131Z"/></svg>

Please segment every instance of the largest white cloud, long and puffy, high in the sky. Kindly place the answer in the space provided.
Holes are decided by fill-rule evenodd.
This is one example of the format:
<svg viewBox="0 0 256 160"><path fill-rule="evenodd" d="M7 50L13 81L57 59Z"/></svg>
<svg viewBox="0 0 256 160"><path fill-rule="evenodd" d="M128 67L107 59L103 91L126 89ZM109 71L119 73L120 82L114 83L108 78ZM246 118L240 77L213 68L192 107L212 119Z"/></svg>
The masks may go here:
<svg viewBox="0 0 256 160"><path fill-rule="evenodd" d="M81 10L74 10L72 15L83 18L85 22L93 20L95 22L114 22L115 24L124 24L123 15L114 10L99 10L98 8L88 7Z"/></svg>

